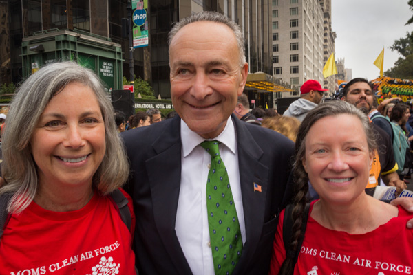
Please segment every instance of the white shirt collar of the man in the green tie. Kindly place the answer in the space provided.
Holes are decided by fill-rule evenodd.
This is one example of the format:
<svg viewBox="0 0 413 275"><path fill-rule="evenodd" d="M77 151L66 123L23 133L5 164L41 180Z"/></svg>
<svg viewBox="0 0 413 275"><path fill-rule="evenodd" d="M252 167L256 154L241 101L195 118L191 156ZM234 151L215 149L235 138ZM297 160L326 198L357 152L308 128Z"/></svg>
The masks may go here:
<svg viewBox="0 0 413 275"><path fill-rule="evenodd" d="M196 146L198 146L205 140L204 137L201 137L200 135L198 135L198 133L191 131L184 120L181 120L180 132L182 153L184 157L187 157L187 155L189 155ZM220 133L218 137L215 137L211 140L218 140L227 148L229 148L229 150L235 155L235 153L237 152L237 140L235 137L235 125L231 119L231 116L228 118L228 120L226 120L224 131L222 131L222 133Z"/></svg>

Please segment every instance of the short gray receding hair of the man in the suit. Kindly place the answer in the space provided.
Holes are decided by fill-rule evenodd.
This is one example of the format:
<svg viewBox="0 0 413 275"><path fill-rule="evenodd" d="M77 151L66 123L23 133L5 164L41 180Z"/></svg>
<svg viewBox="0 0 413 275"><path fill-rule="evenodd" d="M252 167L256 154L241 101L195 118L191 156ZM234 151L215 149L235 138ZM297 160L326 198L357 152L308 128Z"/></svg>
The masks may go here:
<svg viewBox="0 0 413 275"><path fill-rule="evenodd" d="M226 17L224 14L220 14L218 12L200 12L192 14L190 17L185 17L181 19L179 22L173 25L173 28L168 34L168 46L171 46L171 41L173 37L182 29L185 25L189 25L193 22L198 21L211 21L216 23L222 23L227 25L234 33L235 39L237 39L237 46L238 50L240 50L240 67L244 65L246 62L245 59L245 47L244 47L244 34L242 34L242 30L240 26Z"/></svg>

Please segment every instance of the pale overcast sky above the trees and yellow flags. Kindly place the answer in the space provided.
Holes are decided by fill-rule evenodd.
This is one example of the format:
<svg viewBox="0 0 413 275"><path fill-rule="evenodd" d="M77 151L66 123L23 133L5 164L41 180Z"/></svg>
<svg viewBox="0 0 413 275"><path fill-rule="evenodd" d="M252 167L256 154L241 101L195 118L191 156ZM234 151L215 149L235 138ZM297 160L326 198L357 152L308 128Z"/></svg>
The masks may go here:
<svg viewBox="0 0 413 275"><path fill-rule="evenodd" d="M335 59L344 58L352 78L373 80L380 70L373 64L384 47L383 72L394 66L394 41L413 31L405 23L413 16L407 0L332 0L331 25L336 32Z"/></svg>

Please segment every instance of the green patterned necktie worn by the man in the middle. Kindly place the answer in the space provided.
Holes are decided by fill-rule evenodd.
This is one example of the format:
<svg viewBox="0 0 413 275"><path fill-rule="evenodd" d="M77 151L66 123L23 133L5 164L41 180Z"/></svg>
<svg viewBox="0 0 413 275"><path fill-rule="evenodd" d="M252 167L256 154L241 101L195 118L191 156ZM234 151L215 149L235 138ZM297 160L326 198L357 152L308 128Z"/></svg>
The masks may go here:
<svg viewBox="0 0 413 275"><path fill-rule="evenodd" d="M200 145L211 155L207 210L213 266L215 274L232 274L241 256L242 238L228 173L218 150L219 142L205 141Z"/></svg>

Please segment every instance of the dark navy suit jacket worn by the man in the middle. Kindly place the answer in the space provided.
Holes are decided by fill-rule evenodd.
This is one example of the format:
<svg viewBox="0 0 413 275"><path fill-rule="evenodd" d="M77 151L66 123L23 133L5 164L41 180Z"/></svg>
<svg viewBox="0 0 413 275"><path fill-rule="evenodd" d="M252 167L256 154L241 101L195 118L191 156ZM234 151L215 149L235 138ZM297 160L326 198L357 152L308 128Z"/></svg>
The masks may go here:
<svg viewBox="0 0 413 275"><path fill-rule="evenodd" d="M279 211L292 195L293 142L232 117L237 131L246 243L234 274L267 274ZM134 200L140 274L191 274L175 232L181 177L180 118L123 133ZM253 184L262 186L254 192Z"/></svg>

